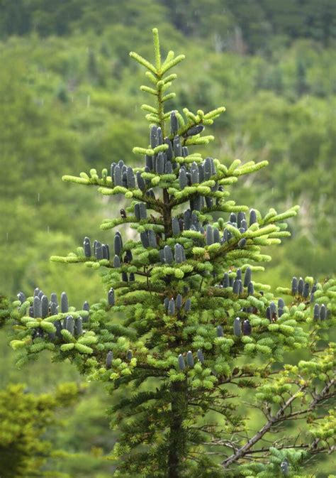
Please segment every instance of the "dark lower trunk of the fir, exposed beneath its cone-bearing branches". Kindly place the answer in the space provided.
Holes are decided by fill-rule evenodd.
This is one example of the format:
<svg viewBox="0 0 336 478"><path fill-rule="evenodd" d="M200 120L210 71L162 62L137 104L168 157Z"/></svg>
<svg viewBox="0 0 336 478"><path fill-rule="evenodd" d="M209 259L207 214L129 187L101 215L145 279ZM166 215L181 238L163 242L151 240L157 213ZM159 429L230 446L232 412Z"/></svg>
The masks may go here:
<svg viewBox="0 0 336 478"><path fill-rule="evenodd" d="M172 415L168 452L168 478L181 478L181 462L186 455L186 432L182 421L186 418L188 407L187 382L177 381L171 385Z"/></svg>

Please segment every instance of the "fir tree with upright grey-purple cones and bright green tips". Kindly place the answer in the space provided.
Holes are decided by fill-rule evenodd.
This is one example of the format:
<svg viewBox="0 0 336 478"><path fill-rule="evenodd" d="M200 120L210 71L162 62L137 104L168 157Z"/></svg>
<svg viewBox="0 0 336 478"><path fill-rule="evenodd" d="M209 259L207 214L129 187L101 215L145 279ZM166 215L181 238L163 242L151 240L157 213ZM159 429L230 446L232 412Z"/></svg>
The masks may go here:
<svg viewBox="0 0 336 478"><path fill-rule="evenodd" d="M304 476L308 460L335 447L327 338L336 282L293 278L273 295L254 281L271 259L262 247L289 237L285 220L298 207L262 216L228 199L241 175L267 161L225 165L197 152L225 108L166 111L171 70L184 55L162 60L156 29L153 36L154 64L130 53L147 70L150 86L141 89L153 100L142 105L149 144L133 148L142 165L121 159L101 177L92 169L63 178L124 196L128 207L101 229L129 224L136 235L116 231L111 248L85 237L76 252L53 256L101 269L106 298L75 310L66 293L19 293L11 345L22 349L20 366L49 349L108 384L112 397L121 389L110 410L116 477ZM283 364L293 350L305 359L296 353Z"/></svg>

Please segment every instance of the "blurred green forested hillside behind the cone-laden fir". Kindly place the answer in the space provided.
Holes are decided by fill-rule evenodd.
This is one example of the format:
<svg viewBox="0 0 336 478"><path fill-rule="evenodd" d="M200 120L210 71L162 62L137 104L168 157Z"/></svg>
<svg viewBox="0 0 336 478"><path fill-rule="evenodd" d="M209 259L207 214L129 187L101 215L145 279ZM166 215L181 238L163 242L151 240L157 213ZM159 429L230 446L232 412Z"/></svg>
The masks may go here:
<svg viewBox="0 0 336 478"><path fill-rule="evenodd" d="M335 0L0 0L2 295L35 286L48 295L67 290L78 307L104 294L91 269L48 259L84 236L111 243L99 224L122 204L61 176L120 159L136 165L132 148L147 137L147 124L143 74L128 53L151 57L153 26L164 53L186 54L169 107L225 105L211 128L212 156L269 161L237 183L232 198L262 213L301 205L292 238L271 251L264 281L323 281L335 271ZM47 355L15 370L7 342L2 332L0 389L23 382L34 393L52 393L61 381L79 383L73 369ZM43 469L108 477L112 465L103 455L116 433L103 414L108 399L90 384L74 402L70 414L55 410L63 426L47 436L52 449L71 456L47 460Z"/></svg>

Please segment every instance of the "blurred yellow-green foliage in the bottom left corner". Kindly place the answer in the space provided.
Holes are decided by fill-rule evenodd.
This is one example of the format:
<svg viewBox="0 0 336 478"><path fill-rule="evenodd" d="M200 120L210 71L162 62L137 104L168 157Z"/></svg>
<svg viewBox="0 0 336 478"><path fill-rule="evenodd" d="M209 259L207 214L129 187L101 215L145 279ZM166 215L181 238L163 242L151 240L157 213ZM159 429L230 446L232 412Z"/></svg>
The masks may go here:
<svg viewBox="0 0 336 478"><path fill-rule="evenodd" d="M20 384L0 391L1 477L69 477L47 471L46 463L61 450L55 449L46 434L60 428L56 412L73 407L80 393L81 389L74 383L62 384L54 393L40 395L34 395Z"/></svg>

